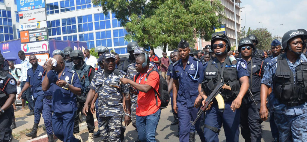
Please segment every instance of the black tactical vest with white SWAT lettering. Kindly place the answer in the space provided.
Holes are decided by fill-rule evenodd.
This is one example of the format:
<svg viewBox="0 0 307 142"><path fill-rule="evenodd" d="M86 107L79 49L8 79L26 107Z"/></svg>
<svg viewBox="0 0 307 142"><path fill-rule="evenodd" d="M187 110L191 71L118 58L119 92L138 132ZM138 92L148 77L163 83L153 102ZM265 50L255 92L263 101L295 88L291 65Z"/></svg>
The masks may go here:
<svg viewBox="0 0 307 142"><path fill-rule="evenodd" d="M228 58L228 56L226 58ZM204 71L205 78L202 82L202 89L207 93L207 95L210 95L218 82L221 81L220 71L216 68L216 64L212 64L212 62L213 61L208 62L208 66ZM231 66L229 60L225 60L224 64L226 64L226 66L223 70L223 81L226 85L231 87L231 91L224 89L221 92L221 95L223 96L224 101L232 101L238 96L240 91L239 80L237 80L238 71L235 65Z"/></svg>

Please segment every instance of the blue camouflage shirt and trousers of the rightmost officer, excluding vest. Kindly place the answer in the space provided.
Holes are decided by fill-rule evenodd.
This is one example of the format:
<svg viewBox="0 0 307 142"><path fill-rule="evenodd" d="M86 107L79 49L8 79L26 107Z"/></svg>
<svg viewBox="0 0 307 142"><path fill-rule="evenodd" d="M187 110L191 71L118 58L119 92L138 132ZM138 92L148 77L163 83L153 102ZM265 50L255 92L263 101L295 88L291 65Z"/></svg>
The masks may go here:
<svg viewBox="0 0 307 142"><path fill-rule="evenodd" d="M288 106L281 103L274 95L273 76L277 70L277 60L278 57L274 57L269 62L261 83L272 88L272 92L269 96L268 108L274 112L274 121L279 131L279 140L281 142L307 141L307 102L301 105ZM307 62L307 59L304 54L301 54L294 64L287 58L286 61L293 73L294 82L296 82L295 69L301 63Z"/></svg>

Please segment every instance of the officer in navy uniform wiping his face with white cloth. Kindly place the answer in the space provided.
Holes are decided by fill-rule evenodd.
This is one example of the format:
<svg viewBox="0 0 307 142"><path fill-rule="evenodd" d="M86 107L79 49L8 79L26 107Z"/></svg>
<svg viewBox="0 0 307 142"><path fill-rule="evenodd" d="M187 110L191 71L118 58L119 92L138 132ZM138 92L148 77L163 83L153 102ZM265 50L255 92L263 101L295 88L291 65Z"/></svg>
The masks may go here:
<svg viewBox="0 0 307 142"><path fill-rule="evenodd" d="M80 142L73 137L73 124L76 115L76 95L81 94L78 73L65 67L62 56L55 55L56 65L50 59L46 76L42 83L44 91L52 94L52 128L59 140ZM54 61L54 60L53 60ZM52 70L52 68L54 70Z"/></svg>

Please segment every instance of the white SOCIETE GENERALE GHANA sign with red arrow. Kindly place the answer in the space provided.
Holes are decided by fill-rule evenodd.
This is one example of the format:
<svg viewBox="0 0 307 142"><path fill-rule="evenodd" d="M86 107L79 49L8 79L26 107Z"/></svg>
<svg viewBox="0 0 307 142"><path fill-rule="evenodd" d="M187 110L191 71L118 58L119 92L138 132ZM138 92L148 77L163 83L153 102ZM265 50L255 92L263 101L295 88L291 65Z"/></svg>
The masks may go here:
<svg viewBox="0 0 307 142"><path fill-rule="evenodd" d="M18 13L18 16L20 24L45 21L46 10L45 8L40 8L34 10L21 11Z"/></svg>

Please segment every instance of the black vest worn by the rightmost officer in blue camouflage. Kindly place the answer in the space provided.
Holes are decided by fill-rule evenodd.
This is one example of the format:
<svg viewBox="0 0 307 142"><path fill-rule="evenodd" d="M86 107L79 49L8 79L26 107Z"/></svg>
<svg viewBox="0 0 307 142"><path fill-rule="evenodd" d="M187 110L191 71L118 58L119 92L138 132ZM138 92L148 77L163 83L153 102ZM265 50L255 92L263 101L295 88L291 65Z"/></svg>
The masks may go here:
<svg viewBox="0 0 307 142"><path fill-rule="evenodd" d="M297 106L307 101L307 62L301 62L295 69L294 76L285 54L277 58L277 69L273 76L273 92L283 104Z"/></svg>

